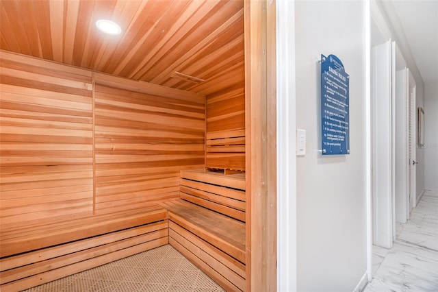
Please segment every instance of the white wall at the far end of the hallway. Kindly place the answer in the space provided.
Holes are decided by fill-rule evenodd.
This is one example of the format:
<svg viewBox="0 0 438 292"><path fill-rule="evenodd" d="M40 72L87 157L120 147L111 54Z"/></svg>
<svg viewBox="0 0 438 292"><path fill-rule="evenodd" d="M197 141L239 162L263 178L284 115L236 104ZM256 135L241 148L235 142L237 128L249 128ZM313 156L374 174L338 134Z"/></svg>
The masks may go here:
<svg viewBox="0 0 438 292"><path fill-rule="evenodd" d="M438 83L424 84L424 188L438 191Z"/></svg>

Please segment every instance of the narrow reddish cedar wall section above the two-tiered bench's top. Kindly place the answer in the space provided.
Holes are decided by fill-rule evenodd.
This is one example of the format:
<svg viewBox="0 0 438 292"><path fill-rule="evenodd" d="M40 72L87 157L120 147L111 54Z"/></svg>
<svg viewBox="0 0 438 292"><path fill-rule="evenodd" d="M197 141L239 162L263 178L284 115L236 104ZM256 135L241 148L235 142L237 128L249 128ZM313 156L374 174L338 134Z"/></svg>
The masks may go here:
<svg viewBox="0 0 438 292"><path fill-rule="evenodd" d="M244 82L207 95L206 167L245 170Z"/></svg>

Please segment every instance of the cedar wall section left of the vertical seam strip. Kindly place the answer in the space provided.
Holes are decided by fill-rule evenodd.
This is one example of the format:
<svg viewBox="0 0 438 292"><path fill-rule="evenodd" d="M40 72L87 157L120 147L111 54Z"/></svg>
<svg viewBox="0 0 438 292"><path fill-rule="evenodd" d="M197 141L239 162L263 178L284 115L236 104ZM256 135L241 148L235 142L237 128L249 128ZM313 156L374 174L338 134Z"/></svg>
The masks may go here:
<svg viewBox="0 0 438 292"><path fill-rule="evenodd" d="M92 214L92 74L1 52L3 226Z"/></svg>

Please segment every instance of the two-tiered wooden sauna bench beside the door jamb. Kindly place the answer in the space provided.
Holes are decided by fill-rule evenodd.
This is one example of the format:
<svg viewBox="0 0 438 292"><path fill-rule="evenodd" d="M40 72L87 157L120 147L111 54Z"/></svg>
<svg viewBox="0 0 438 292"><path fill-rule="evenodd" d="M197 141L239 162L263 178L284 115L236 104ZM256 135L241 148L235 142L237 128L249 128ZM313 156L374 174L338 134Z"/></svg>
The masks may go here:
<svg viewBox="0 0 438 292"><path fill-rule="evenodd" d="M245 291L244 174L181 171L169 213L169 243L227 291Z"/></svg>

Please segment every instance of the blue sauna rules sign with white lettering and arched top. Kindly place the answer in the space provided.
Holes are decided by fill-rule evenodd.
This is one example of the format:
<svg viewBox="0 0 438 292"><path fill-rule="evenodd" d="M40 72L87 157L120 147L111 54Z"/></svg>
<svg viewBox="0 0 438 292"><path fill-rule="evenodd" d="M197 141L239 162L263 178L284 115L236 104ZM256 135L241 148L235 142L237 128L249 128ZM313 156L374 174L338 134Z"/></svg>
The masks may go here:
<svg viewBox="0 0 438 292"><path fill-rule="evenodd" d="M350 154L350 76L335 55L321 55L322 155Z"/></svg>

